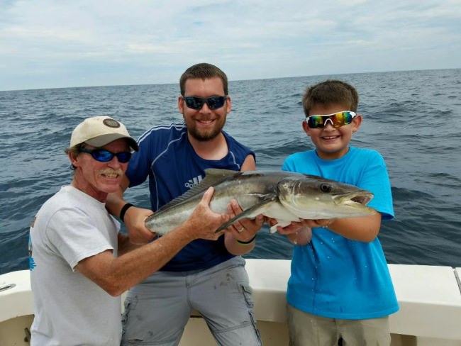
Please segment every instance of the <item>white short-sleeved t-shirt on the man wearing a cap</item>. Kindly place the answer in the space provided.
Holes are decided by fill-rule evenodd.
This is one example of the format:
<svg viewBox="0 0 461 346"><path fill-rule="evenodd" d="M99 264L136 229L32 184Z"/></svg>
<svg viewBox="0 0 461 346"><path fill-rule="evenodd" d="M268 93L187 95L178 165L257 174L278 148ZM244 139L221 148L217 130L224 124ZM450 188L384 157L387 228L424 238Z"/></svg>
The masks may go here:
<svg viewBox="0 0 461 346"><path fill-rule="evenodd" d="M104 203L72 186L43 204L30 227L30 345L120 344L121 298L74 271L79 261L105 250L115 257L119 229Z"/></svg>

